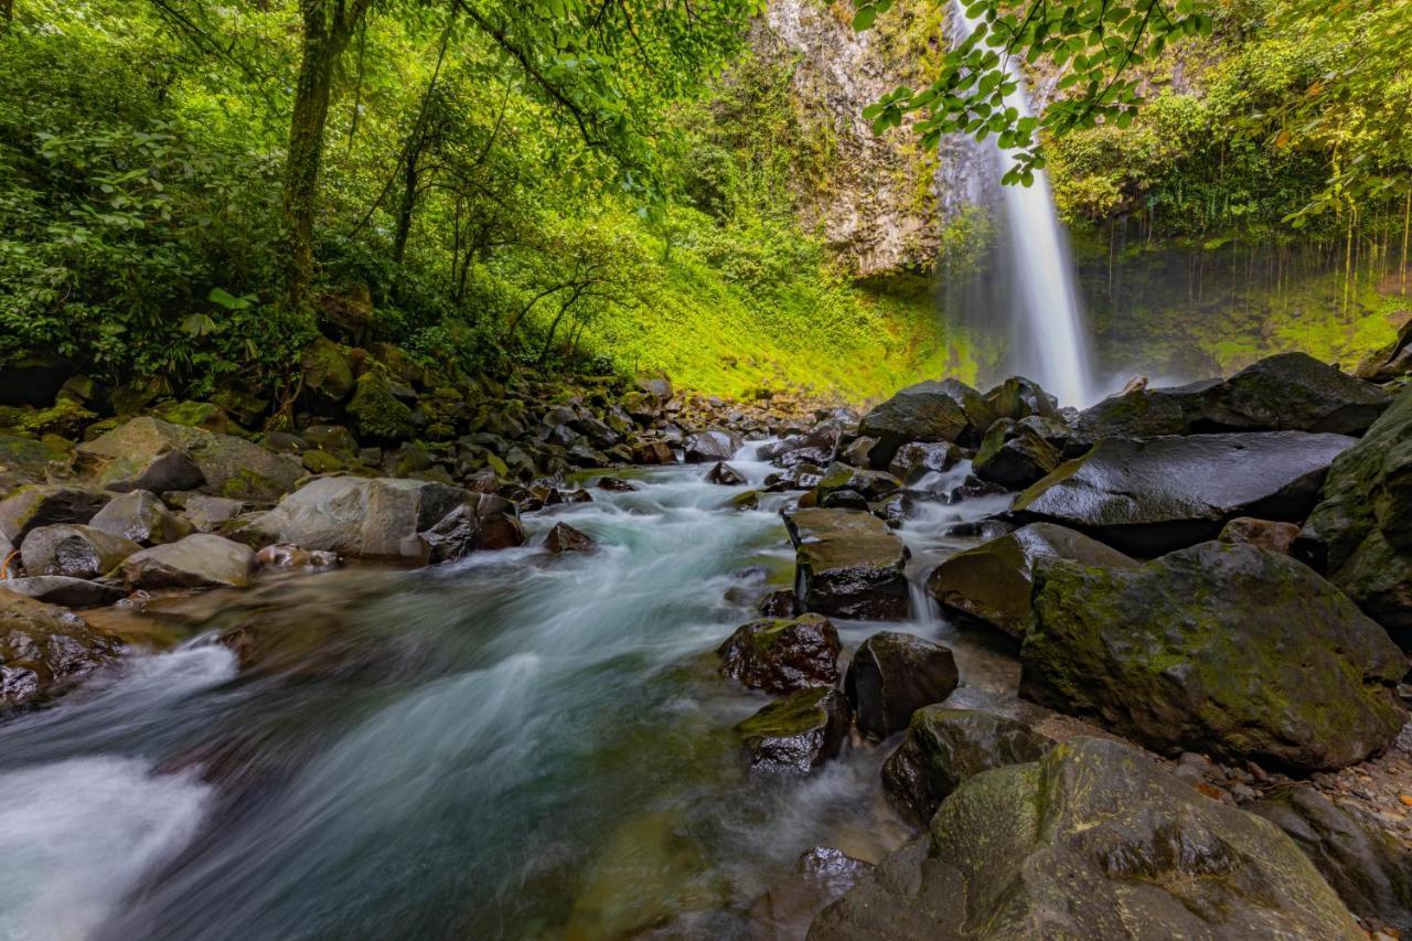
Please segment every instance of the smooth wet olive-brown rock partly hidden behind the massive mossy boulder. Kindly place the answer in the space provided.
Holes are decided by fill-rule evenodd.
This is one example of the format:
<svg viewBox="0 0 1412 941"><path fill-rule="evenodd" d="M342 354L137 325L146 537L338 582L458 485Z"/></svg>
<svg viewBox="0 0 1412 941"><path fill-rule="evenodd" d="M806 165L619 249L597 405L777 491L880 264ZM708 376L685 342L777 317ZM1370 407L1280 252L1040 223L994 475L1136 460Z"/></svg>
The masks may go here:
<svg viewBox="0 0 1412 941"><path fill-rule="evenodd" d="M1041 558L1069 558L1094 567L1137 565L1082 533L1052 523L1031 523L952 555L932 569L926 591L943 612L1022 640L1035 622L1029 595L1035 562Z"/></svg>

